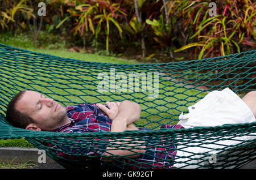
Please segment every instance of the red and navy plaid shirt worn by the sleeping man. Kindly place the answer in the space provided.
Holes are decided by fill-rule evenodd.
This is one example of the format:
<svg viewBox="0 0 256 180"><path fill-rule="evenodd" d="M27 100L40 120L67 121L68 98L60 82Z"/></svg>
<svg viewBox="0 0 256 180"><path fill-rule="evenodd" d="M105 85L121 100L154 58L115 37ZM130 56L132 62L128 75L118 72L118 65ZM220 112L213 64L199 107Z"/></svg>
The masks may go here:
<svg viewBox="0 0 256 180"><path fill-rule="evenodd" d="M67 115L69 119L71 120L70 123L67 125L61 126L54 130L55 132L110 132L110 128L112 125L112 119L110 119L98 106L95 104L79 104L79 105L71 105L67 106ZM161 128L183 128L181 125L163 125ZM146 128L139 128L139 130L147 131ZM108 139L102 139L108 141ZM147 140L152 141L150 139ZM154 141L161 141L154 140ZM150 143L151 144L151 143ZM160 143L161 146L158 145L157 147L154 146L154 142L150 146L146 147L146 152L133 159L134 162L130 161L128 164L130 166L122 167L122 168L152 168L158 167L158 168L172 168L172 161L176 155L176 146L171 145L170 142L166 144ZM50 145L51 146L51 145ZM86 161L91 161L93 157L97 156L99 157L104 154L104 150L106 149L106 146L98 147L97 145L97 151L95 151L95 145L89 144L86 145L88 147L94 146L94 149L90 150L90 148L86 149L79 149L77 151L76 148L67 148L67 147L61 147L62 149L65 148L66 151L71 152L69 155L67 153L62 153L61 151L57 152L59 156L64 156L67 158L76 159L76 156L73 156L72 154L81 154L85 155L83 156ZM81 160L81 156L78 156ZM134 164L134 165L133 165Z"/></svg>

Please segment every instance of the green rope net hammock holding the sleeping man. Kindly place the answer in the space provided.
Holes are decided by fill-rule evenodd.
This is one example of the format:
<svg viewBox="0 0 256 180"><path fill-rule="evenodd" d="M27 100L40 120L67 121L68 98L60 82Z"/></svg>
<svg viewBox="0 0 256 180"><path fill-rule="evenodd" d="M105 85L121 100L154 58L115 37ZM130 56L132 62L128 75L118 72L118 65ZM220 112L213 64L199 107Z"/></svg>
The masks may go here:
<svg viewBox="0 0 256 180"><path fill-rule="evenodd" d="M162 153L168 153L174 150L168 149L170 144L177 151L185 151L185 147L203 147L205 144L221 144L221 140L234 140L237 143L233 145L221 144L218 149L209 148L202 153L191 151L191 155L187 157L174 155L175 161L173 158L156 158L155 161L168 161L179 168L239 168L255 160L255 138L239 139L243 136L255 137L255 122L187 129L159 127L164 124L175 125L181 112L188 112L188 106L195 104L210 91L229 87L239 96L255 91L255 57L256 50L251 50L195 61L129 65L61 58L0 44L0 139L25 138L37 148L44 149L49 157L65 168L140 168L141 165L167 168L168 166L155 166L151 163L142 164L129 156L117 158L113 155L108 156L112 161L101 161L102 154L98 153L98 149L113 147L133 151L129 144L136 144L141 140L148 148L147 152L150 152L149 147L166 144ZM124 87L118 84L120 79L107 79L105 82L102 79L103 75L110 76L111 73L129 77L129 73L135 72L141 76L146 75L147 80L151 80L150 88L143 89L146 86L141 80L134 82L133 91L129 84L127 91L123 91ZM108 82L109 86L102 85ZM150 128L151 131L61 133L16 128L6 122L5 111L11 98L24 89L43 93L63 106L135 101L142 107L141 119L135 125ZM108 92L104 92L107 90ZM123 144L119 145L117 141L122 141ZM68 150L71 148L76 153ZM83 150L93 151L96 155L85 156ZM213 151L216 151L214 155ZM148 156L154 156L154 153L148 153Z"/></svg>

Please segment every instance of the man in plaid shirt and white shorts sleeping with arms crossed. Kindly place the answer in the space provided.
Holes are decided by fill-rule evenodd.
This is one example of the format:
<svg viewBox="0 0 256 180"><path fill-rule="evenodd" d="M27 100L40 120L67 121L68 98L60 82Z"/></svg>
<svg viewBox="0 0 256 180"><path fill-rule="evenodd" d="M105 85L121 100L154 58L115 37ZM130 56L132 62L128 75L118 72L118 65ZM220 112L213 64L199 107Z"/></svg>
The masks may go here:
<svg viewBox="0 0 256 180"><path fill-rule="evenodd" d="M222 91L208 93L202 100L188 107L188 114L180 114L177 125L163 125L161 128L191 128L196 126L221 126L228 123L255 122L256 91L247 93L240 98L226 88ZM9 102L6 110L6 119L11 125L27 130L54 131L54 132L123 132L126 130L147 131L146 128L137 128L133 125L141 115L141 107L136 102L106 102L102 104L78 104L67 107L61 106L52 98L48 98L35 91L21 91ZM160 139L158 141L161 141ZM171 142L171 140L170 140ZM121 144L122 142L115 142ZM188 152L177 151L175 145L162 143L153 147L144 145L143 141L126 145L126 149L100 147L75 151L84 157L93 155L111 156L118 159L126 156L130 161L129 168L172 168L175 157L191 155ZM225 142L226 143L226 142ZM230 142L227 142L230 143ZM214 147L218 148L218 147ZM199 148L189 148L189 151L202 151ZM65 156L65 155L63 155ZM66 155L71 157L71 155ZM185 158L184 158L185 160ZM179 161L182 161L179 159ZM138 163L141 162L141 163ZM179 165L176 165L179 166Z"/></svg>

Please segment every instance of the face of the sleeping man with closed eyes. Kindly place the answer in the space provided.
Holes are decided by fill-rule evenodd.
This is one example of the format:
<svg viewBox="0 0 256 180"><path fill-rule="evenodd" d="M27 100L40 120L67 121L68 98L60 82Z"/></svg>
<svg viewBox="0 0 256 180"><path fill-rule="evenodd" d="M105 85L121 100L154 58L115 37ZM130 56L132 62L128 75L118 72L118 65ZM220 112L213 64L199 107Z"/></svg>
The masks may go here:
<svg viewBox="0 0 256 180"><path fill-rule="evenodd" d="M65 107L53 101L52 98L34 91L24 92L22 98L16 102L15 108L34 119L35 126L43 131L51 131L60 127L67 115Z"/></svg>

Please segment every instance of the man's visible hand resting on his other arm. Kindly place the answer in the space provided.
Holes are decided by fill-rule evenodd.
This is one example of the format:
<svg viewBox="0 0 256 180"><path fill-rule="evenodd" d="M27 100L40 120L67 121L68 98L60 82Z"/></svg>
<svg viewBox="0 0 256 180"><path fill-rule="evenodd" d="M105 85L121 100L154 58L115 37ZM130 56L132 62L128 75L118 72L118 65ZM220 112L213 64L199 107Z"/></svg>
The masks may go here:
<svg viewBox="0 0 256 180"><path fill-rule="evenodd" d="M110 119L114 119L117 116L118 113L118 107L121 104L121 102L106 102L106 105L108 105L109 108L107 108L105 105L97 103L96 105L98 108L100 108Z"/></svg>

